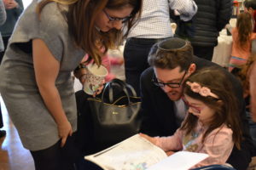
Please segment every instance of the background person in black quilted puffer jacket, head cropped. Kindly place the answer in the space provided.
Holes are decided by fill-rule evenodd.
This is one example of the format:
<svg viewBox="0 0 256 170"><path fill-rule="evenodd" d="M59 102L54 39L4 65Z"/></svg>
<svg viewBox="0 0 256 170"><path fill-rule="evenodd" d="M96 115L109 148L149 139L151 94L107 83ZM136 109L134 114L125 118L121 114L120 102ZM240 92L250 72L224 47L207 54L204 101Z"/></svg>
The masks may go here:
<svg viewBox="0 0 256 170"><path fill-rule="evenodd" d="M195 32L187 35L194 48L194 54L200 58L212 60L213 49L218 45L218 32L229 23L232 14L232 0L194 0L198 9L192 19ZM180 28L177 27L178 37ZM182 36L184 37L184 35Z"/></svg>

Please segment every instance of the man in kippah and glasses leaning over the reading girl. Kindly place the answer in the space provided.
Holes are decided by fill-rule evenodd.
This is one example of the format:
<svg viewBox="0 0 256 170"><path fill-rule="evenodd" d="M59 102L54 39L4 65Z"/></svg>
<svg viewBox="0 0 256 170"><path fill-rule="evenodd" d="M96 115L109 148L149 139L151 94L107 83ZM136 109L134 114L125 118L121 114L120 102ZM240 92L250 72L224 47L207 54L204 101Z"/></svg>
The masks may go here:
<svg viewBox="0 0 256 170"><path fill-rule="evenodd" d="M180 38L168 38L154 44L148 56L148 63L152 67L143 71L141 77L141 132L150 136L169 136L175 133L187 111L181 99L184 80L195 71L216 64L193 56L193 48L189 42ZM241 150L234 148L228 163L237 170L245 170L251 161L253 143L245 117L241 84L222 67L216 65L216 68L222 69L227 81L234 85L243 123L244 140Z"/></svg>

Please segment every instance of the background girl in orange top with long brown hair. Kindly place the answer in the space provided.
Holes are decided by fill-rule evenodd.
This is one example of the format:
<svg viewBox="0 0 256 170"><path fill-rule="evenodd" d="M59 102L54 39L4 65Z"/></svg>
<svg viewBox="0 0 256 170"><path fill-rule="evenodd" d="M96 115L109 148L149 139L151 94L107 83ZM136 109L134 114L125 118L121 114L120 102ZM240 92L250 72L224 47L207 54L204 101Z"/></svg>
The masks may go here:
<svg viewBox="0 0 256 170"><path fill-rule="evenodd" d="M236 28L227 28L230 30L233 38L232 52L230 58L229 71L234 68L240 68L247 62L251 54L251 42L256 38L256 33L253 33L254 20L251 14L245 12L237 17Z"/></svg>

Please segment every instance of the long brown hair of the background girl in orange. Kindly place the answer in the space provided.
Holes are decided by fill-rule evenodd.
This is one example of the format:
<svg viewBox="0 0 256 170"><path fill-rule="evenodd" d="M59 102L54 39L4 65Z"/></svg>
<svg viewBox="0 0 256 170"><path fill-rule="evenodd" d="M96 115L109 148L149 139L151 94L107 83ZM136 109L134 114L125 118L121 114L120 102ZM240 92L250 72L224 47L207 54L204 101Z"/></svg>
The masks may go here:
<svg viewBox="0 0 256 170"><path fill-rule="evenodd" d="M241 49L246 49L250 44L250 37L253 32L253 17L251 14L245 12L241 13L237 17L236 28L238 31L238 38L236 43Z"/></svg>

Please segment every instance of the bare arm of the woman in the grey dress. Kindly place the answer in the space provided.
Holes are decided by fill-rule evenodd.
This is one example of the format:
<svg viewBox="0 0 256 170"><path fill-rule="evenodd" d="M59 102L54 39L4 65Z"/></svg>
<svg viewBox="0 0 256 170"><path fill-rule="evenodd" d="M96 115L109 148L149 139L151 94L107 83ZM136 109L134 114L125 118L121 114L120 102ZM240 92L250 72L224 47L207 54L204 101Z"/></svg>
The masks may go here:
<svg viewBox="0 0 256 170"><path fill-rule="evenodd" d="M60 70L60 63L49 52L41 39L32 41L33 65L39 92L44 104L55 119L61 138L61 146L66 143L68 135L72 135L72 127L61 105L60 94L55 87L55 79Z"/></svg>

